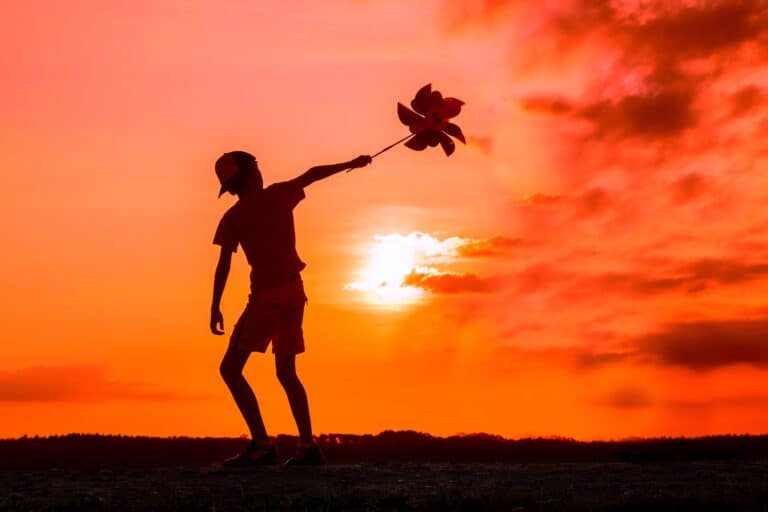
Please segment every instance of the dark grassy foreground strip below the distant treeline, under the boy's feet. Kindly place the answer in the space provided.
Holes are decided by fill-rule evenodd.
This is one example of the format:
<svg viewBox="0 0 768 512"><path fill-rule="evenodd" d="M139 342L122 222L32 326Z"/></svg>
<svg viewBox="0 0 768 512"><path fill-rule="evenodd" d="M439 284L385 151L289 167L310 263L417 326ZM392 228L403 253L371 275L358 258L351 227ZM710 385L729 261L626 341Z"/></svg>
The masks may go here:
<svg viewBox="0 0 768 512"><path fill-rule="evenodd" d="M768 461L0 471L1 510L768 510Z"/></svg>

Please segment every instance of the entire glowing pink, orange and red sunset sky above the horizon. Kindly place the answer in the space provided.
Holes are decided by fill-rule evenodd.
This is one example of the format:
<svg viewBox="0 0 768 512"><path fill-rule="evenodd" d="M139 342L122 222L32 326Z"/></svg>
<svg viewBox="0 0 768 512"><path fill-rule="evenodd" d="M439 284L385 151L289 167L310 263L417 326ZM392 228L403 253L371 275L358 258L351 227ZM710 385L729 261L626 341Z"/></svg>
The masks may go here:
<svg viewBox="0 0 768 512"><path fill-rule="evenodd" d="M238 436L213 164L313 184L316 433L768 431L768 2L5 2L0 437ZM229 334L248 294L235 255ZM295 433L271 354L245 371Z"/></svg>

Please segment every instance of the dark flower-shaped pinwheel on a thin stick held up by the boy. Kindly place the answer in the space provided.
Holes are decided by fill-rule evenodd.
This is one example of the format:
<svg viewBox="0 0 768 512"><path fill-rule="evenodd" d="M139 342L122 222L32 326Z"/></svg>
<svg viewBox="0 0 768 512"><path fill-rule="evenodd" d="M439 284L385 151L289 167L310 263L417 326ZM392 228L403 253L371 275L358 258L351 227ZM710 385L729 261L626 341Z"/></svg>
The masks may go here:
<svg viewBox="0 0 768 512"><path fill-rule="evenodd" d="M419 89L416 97L411 101L413 110L402 103L397 104L397 117L404 125L408 126L411 133L373 156L378 156L406 140L408 142L405 145L416 151L422 151L427 146L435 147L440 144L445 155L450 156L456 149L451 137L466 144L461 128L449 121L459 115L462 105L464 102L461 100L443 98L440 91L433 91L432 84L425 85Z"/></svg>

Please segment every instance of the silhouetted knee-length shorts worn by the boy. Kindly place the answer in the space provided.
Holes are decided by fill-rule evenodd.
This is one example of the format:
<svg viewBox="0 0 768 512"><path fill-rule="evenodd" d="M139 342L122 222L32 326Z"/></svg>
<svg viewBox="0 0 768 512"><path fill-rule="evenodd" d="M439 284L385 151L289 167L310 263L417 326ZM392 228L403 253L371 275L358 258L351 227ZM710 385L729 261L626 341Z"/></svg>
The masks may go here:
<svg viewBox="0 0 768 512"><path fill-rule="evenodd" d="M304 283L299 276L252 292L232 331L230 348L263 353L271 341L273 354L304 352L301 323L306 300Z"/></svg>

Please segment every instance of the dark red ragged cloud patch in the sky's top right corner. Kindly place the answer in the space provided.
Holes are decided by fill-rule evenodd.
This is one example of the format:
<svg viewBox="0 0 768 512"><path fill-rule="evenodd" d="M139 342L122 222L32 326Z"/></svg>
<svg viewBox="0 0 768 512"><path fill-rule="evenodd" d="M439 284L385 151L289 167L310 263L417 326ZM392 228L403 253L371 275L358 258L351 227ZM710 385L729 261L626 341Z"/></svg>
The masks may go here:
<svg viewBox="0 0 768 512"><path fill-rule="evenodd" d="M497 2L489 10L501 13L512 3ZM537 23L538 37L560 41L552 66L586 41L597 52L596 59L618 56L606 71L593 75L579 98L536 92L521 99L527 111L586 123L588 137L580 144L679 138L700 126L700 100L713 94L713 80L748 60L743 51L760 55L768 47L768 4L762 0L580 0L551 11L534 2L522 5L527 9L520 15L521 24L527 18L543 19ZM754 84L743 86L730 100L732 116L765 101Z"/></svg>

